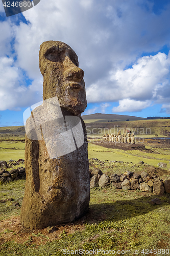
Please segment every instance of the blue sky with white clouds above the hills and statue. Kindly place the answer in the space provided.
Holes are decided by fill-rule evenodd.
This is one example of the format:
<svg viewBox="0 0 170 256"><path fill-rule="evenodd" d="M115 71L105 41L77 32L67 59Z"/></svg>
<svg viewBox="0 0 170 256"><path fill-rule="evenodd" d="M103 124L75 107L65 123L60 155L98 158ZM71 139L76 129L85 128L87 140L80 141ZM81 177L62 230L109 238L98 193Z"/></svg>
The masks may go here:
<svg viewBox="0 0 170 256"><path fill-rule="evenodd" d="M0 126L23 125L42 100L39 46L68 44L96 112L170 116L169 0L41 0L6 17L0 2Z"/></svg>

